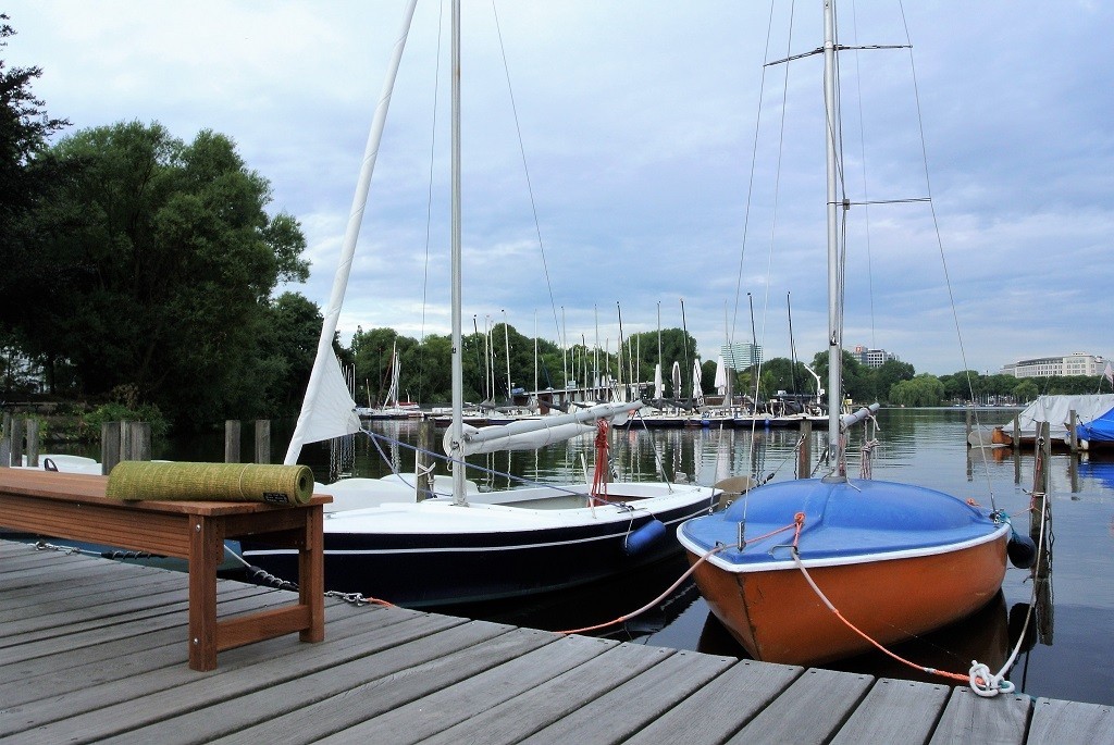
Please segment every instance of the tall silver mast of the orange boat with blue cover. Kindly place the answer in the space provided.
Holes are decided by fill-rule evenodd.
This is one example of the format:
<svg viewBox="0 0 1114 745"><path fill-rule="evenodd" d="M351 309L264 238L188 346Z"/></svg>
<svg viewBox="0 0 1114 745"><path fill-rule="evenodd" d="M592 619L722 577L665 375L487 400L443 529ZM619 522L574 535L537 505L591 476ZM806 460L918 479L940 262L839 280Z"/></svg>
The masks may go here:
<svg viewBox="0 0 1114 745"><path fill-rule="evenodd" d="M839 236L837 233L836 146L839 119L836 109L836 10L834 0L824 0L824 119L828 156L828 448L834 459L837 478L847 478L840 440L840 410L843 401L842 329L839 317Z"/></svg>

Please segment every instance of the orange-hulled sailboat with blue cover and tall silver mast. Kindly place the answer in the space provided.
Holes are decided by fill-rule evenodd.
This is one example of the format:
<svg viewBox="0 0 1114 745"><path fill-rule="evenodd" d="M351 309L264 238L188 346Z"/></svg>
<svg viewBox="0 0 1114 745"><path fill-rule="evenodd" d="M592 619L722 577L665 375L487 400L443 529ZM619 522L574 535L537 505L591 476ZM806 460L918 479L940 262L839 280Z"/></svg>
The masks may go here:
<svg viewBox="0 0 1114 745"><path fill-rule="evenodd" d="M841 384L833 0L824 1L829 399ZM754 658L817 665L907 639L990 601L1006 571L1006 518L917 486L851 479L844 435L878 404L829 406L831 471L768 483L677 538L712 612Z"/></svg>

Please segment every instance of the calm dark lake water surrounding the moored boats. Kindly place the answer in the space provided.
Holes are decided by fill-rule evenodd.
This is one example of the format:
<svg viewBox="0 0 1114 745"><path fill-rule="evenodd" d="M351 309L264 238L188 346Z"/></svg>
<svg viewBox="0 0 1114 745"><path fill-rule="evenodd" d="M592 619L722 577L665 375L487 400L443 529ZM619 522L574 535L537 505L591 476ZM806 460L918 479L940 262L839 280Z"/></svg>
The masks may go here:
<svg viewBox="0 0 1114 745"><path fill-rule="evenodd" d="M984 424L1004 424L1012 410L980 411ZM1005 509L1018 532L1029 525L1029 491L1034 457L1026 451L969 451L965 412L959 409L891 409L880 412L873 477L907 481L962 497L984 506ZM247 428L245 428L246 430ZM312 445L302 462L313 468L319 481L330 481L343 471L379 477L390 468L413 472L413 450L419 428L410 422L381 422L375 431L403 444L372 441L356 435L340 445ZM434 433L440 447L443 430ZM289 434L273 433L275 460L281 460ZM750 463L774 480L792 479L795 472L795 431L657 430L617 431L613 457L620 478L654 478L655 448L671 474L684 473L712 484L726 476L749 473ZM852 440L856 451L862 435ZM246 433L245 433L246 438ZM156 457L221 460L217 437L204 443L172 443ZM827 432L813 434L812 458L822 449ZM251 452L245 440L245 453ZM489 471L511 473L535 481L583 478L585 462L593 460L590 438L551 445L537 452L497 453L469 459ZM984 454L985 453L985 454ZM586 461L584 459L587 459ZM857 455L849 471L858 473ZM443 468L439 469L443 472ZM1023 651L1009 674L1017 689L1046 696L1097 704L1114 704L1114 457L1092 457L1073 465L1066 452L1054 452L1049 464L1052 503L1052 579L1034 581L1029 570L1010 567L1001 594L983 611L952 627L907 644L895 651L918 665L966 675L973 659L997 672L1020 636L1026 611L1033 604ZM496 473L470 473L481 484L506 488L510 479ZM461 609L458 615L488 618L550 630L579 628L629 614L661 596L687 568L683 558L655 567L636 577L560 597ZM328 578L326 582L328 585ZM364 595L374 595L369 587ZM447 609L453 612L453 609ZM688 581L637 618L599 633L616 639L676 649L745 657L746 654L710 614L694 585ZM828 667L876 676L946 683L878 654L863 655Z"/></svg>

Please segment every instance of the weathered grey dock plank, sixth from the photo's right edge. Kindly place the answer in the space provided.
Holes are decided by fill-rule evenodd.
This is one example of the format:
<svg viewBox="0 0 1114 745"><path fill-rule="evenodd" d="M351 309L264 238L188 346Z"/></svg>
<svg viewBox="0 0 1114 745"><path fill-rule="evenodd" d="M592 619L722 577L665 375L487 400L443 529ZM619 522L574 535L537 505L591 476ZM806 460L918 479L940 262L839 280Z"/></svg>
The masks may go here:
<svg viewBox="0 0 1114 745"><path fill-rule="evenodd" d="M649 647L639 648L645 649L645 654L653 651ZM522 742L536 744L625 742L636 732L658 721L663 712L680 704L701 687L716 685L714 680L717 676L736 661L739 660L734 657L677 651L637 677L600 696L593 697L590 702L554 721L549 726L528 733L530 736Z"/></svg>

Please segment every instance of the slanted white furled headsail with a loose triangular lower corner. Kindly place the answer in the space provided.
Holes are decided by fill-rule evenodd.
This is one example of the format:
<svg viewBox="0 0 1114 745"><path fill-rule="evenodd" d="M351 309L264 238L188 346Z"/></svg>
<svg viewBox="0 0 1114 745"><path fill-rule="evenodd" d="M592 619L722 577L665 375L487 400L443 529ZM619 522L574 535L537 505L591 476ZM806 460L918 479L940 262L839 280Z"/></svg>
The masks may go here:
<svg viewBox="0 0 1114 745"><path fill-rule="evenodd" d="M355 255L356 238L360 236L363 209L368 204L368 192L371 188L371 175L375 170L379 144L383 138L383 127L387 124L387 109L391 104L394 78L399 71L399 62L402 59L402 50L407 43L410 21L413 19L417 4L418 0L410 0L403 13L402 27L394 40L391 61L387 68L383 91L379 96L375 115L372 117L368 145L363 151L363 165L360 167L355 196L352 197L352 210L344 231L341 261L333 277L333 290L329 296L329 306L325 308L325 318L321 326L321 336L317 340L317 355L313 361L313 371L310 373L310 384L306 386L305 399L302 401L297 425L294 428L294 434L291 437L290 447L286 450L286 458L283 460L287 465L297 463L302 444L305 442L328 440L360 430L360 420L354 411L355 402L352 401L351 394L346 394L346 386L343 388L344 392L342 392L336 385L338 381L343 385L343 379L340 375L336 355L333 354L333 335L336 333L336 321L341 314L341 305L344 303L344 292L348 290L352 257ZM332 421L322 422L320 421L322 418Z"/></svg>

